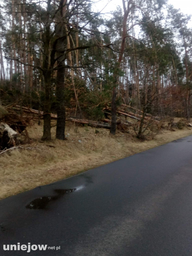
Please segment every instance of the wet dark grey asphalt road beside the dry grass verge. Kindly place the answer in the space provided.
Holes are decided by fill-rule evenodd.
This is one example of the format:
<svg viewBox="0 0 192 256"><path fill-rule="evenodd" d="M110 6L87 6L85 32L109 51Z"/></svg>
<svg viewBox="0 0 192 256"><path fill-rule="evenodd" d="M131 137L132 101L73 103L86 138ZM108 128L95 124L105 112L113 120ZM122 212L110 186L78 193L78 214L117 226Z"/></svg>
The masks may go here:
<svg viewBox="0 0 192 256"><path fill-rule="evenodd" d="M192 136L1 200L7 255L191 256Z"/></svg>

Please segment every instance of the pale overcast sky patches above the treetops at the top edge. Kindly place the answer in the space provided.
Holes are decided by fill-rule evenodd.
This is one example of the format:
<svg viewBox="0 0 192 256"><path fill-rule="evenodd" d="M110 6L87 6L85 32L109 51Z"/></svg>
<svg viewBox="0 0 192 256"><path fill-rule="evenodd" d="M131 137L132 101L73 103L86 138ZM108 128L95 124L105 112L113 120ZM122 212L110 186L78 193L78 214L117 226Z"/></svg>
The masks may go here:
<svg viewBox="0 0 192 256"><path fill-rule="evenodd" d="M102 8L110 2L102 12L110 12L115 9L117 5L122 5L122 0L101 0L97 3L95 10L101 11ZM181 9L184 14L192 14L192 0L168 0L175 8Z"/></svg>

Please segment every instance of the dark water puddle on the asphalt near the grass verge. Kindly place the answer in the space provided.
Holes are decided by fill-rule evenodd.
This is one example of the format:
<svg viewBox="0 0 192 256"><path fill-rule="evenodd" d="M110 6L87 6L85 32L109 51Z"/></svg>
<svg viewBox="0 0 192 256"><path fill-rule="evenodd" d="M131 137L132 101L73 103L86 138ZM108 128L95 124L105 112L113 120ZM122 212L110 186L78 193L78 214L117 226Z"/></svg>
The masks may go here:
<svg viewBox="0 0 192 256"><path fill-rule="evenodd" d="M35 200L31 201L28 205L26 205L27 209L46 209L49 202L54 201L62 197L64 194L72 193L76 190L73 189L54 189L54 192L57 193L55 196L43 196L36 198Z"/></svg>

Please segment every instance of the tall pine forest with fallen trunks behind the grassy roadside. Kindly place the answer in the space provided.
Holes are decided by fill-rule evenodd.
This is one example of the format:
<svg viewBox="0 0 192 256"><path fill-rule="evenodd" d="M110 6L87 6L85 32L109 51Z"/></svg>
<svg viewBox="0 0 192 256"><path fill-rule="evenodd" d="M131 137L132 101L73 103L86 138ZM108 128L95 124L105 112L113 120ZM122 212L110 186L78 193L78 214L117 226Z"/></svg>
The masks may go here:
<svg viewBox="0 0 192 256"><path fill-rule="evenodd" d="M166 0L122 0L110 13L99 2L99 12L93 0L1 2L1 150L31 119L43 119L42 141L55 121L59 140L66 121L112 135L131 126L139 139L162 119L189 121L191 17Z"/></svg>

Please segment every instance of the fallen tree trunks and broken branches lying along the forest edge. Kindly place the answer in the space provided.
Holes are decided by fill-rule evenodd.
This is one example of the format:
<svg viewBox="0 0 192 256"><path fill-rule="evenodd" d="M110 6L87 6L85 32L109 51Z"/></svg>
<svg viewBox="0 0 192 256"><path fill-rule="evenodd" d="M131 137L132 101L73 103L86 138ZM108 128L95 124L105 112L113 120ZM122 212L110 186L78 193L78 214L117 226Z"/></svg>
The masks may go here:
<svg viewBox="0 0 192 256"><path fill-rule="evenodd" d="M78 119L72 117L72 113L70 110L67 109L66 113L66 121L91 126L94 128L111 128L111 108L105 107L103 109L103 113L105 118L101 119L100 121L94 120L87 120L87 119ZM149 113L143 113L142 110L136 109L131 106L127 106L122 104L120 107L117 108L117 129L123 132L129 132L130 125L134 127L138 127L142 124L145 126L144 129L147 129L151 124L155 124L157 129L161 129L164 123L168 123L168 128L174 126L173 118L160 120L159 117L154 117ZM19 105L12 105L9 107L2 107L0 105L0 155L6 152L9 152L13 149L35 149L31 147L22 147L19 144L23 144L21 138L21 134L25 131L25 142L29 142L30 138L27 134L26 127L31 125L31 120L40 120L43 118L43 111L38 111L29 107L19 106ZM51 119L56 120L57 115L50 113ZM128 119L128 120L127 120ZM131 122L130 119L133 119ZM175 127L178 129L182 129L184 126L192 126L186 120L180 120L175 124ZM28 140L28 141L27 141ZM23 141L24 142L24 141ZM25 143L24 142L24 143Z"/></svg>

